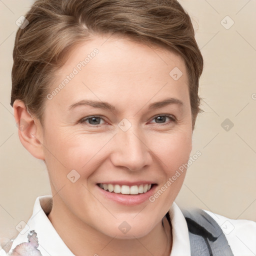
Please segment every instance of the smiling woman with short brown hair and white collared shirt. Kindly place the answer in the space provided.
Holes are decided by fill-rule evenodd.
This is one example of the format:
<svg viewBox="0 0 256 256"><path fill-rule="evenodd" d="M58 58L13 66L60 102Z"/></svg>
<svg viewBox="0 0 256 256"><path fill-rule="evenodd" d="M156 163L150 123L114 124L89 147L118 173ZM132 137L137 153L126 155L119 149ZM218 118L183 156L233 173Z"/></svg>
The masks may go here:
<svg viewBox="0 0 256 256"><path fill-rule="evenodd" d="M203 67L180 4L38 0L25 18L11 105L52 196L36 199L10 255L256 253L253 221L182 212L174 202ZM248 236L246 247L237 234Z"/></svg>

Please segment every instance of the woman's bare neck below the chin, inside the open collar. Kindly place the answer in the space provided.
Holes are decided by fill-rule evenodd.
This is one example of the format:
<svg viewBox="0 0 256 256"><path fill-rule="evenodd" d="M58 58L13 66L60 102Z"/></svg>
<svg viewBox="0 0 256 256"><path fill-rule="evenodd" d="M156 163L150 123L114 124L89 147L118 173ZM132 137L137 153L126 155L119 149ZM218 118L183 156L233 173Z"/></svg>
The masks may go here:
<svg viewBox="0 0 256 256"><path fill-rule="evenodd" d="M54 200L48 218L61 239L76 256L170 255L172 237L166 217L147 235L134 239L117 239L105 235L78 219L63 203Z"/></svg>

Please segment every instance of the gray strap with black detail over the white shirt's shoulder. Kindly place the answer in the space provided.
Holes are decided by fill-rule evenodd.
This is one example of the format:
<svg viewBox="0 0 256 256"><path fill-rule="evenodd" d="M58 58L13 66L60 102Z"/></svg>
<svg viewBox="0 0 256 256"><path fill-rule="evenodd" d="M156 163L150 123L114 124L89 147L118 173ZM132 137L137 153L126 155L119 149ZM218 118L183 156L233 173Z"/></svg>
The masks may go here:
<svg viewBox="0 0 256 256"><path fill-rule="evenodd" d="M217 222L202 209L181 210L189 231L191 256L234 256Z"/></svg>

